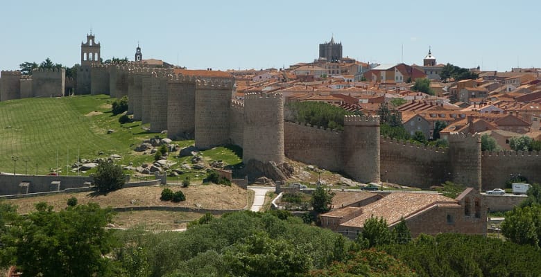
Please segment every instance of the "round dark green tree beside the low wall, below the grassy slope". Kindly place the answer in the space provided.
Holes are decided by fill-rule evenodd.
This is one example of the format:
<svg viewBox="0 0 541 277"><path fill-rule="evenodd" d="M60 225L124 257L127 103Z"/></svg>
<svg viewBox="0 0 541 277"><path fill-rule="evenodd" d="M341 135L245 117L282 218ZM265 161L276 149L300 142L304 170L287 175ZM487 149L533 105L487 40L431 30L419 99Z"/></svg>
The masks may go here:
<svg viewBox="0 0 541 277"><path fill-rule="evenodd" d="M125 181L121 166L115 165L113 161L102 161L98 164L94 184L101 193L118 190L124 186Z"/></svg>

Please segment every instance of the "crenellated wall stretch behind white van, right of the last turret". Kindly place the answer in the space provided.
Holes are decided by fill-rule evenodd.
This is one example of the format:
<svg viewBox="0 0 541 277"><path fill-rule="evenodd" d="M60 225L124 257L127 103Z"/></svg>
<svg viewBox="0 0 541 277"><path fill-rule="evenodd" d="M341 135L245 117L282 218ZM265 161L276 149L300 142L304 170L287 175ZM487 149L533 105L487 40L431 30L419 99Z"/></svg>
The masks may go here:
<svg viewBox="0 0 541 277"><path fill-rule="evenodd" d="M505 188L512 175L522 175L530 184L541 184L541 152L483 151L481 172L483 190Z"/></svg>

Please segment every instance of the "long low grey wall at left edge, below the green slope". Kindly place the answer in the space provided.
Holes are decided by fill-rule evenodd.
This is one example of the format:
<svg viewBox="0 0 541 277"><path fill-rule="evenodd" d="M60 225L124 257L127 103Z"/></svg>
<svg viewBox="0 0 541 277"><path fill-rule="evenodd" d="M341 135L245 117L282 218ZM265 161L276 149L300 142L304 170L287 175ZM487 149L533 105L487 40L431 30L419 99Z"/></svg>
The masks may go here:
<svg viewBox="0 0 541 277"><path fill-rule="evenodd" d="M85 184L85 182L87 182ZM81 188L92 183L92 177L0 175L0 195L46 193Z"/></svg>

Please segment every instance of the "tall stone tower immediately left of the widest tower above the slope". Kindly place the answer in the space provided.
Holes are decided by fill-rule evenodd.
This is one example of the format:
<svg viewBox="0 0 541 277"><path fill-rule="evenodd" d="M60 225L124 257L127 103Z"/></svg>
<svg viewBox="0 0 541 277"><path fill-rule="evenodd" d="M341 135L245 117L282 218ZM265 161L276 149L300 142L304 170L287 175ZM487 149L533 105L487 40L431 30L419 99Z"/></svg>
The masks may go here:
<svg viewBox="0 0 541 277"><path fill-rule="evenodd" d="M196 77L173 74L167 83L167 137L194 139L196 129Z"/></svg>

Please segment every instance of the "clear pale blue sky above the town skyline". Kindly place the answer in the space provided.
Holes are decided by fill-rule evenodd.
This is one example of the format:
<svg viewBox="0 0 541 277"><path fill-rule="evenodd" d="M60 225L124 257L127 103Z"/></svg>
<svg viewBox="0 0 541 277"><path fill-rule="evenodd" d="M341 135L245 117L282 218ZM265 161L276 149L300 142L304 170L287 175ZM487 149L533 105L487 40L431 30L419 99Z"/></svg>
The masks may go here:
<svg viewBox="0 0 541 277"><path fill-rule="evenodd" d="M540 1L10 1L0 4L0 69L80 63L90 28L101 56L189 69L280 68L343 44L363 62L438 63L483 70L541 66Z"/></svg>

